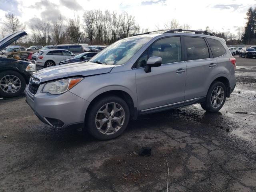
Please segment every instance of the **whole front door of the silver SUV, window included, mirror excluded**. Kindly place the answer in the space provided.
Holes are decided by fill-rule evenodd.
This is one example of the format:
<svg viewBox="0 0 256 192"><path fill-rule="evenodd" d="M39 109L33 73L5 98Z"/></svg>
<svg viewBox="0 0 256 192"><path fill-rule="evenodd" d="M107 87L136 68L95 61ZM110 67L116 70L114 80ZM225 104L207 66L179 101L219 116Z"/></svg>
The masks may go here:
<svg viewBox="0 0 256 192"><path fill-rule="evenodd" d="M146 73L144 67L149 57L162 58L162 65ZM146 110L184 102L186 63L181 62L179 36L161 38L140 56L135 69L139 110Z"/></svg>

